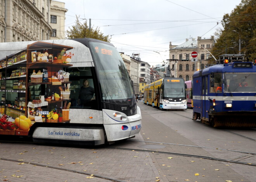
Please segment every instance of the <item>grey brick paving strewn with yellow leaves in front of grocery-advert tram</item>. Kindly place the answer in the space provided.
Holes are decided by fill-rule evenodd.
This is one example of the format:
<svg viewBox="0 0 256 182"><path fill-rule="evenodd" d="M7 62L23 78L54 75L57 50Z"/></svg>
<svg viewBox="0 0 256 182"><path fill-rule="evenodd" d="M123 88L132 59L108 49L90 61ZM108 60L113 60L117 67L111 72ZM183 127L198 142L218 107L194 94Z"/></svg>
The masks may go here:
<svg viewBox="0 0 256 182"><path fill-rule="evenodd" d="M136 151L136 149L148 149L216 157L210 149L161 144L198 145L173 127L168 126L167 123L160 122L157 118L166 116L163 115L164 112L158 113L159 110L144 106L142 103L138 103L138 105L141 107L143 117L140 134L133 139L110 145L111 148L1 142L0 180L10 182L110 181L96 177L98 175L123 182L155 182L158 180L160 182L256 181L251 173L252 171L256 172L256 168L253 166L150 151ZM158 114L148 114L149 111ZM161 143L148 143L147 141ZM135 150L114 149L117 147ZM241 173L237 172L238 168L240 168ZM243 177L246 170L249 173ZM195 175L196 173L199 175ZM94 178L86 178L90 177L91 174L94 175Z"/></svg>

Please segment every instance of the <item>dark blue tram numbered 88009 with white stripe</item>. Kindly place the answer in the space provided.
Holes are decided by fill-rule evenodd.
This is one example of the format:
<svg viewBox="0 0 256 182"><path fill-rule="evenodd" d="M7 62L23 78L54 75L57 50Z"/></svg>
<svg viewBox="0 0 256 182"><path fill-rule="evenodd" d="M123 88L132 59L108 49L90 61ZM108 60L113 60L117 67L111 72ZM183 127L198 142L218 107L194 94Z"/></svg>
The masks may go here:
<svg viewBox="0 0 256 182"><path fill-rule="evenodd" d="M193 120L256 128L256 63L225 60L195 71Z"/></svg>

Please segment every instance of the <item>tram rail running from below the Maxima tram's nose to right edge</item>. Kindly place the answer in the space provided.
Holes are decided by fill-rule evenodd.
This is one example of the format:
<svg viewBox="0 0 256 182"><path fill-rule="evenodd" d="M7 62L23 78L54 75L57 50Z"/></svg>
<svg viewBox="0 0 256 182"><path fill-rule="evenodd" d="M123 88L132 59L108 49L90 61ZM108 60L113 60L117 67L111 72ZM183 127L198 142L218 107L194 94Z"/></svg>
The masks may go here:
<svg viewBox="0 0 256 182"><path fill-rule="evenodd" d="M116 149L116 150L131 150L131 151L141 151L141 152L152 152L152 153L154 152L154 153L203 158L203 159L216 160L216 161L221 161L221 162L230 162L230 163L237 163L237 164L242 164L242 165L256 166L256 163L246 163L246 162L227 160L227 159L221 159L221 158L214 158L214 157L202 156L202 155L191 155L191 154L185 154L185 153L164 152L164 151L157 151L157 150L143 150L143 149L135 149L135 148L119 148L119 147L105 147L105 148Z"/></svg>

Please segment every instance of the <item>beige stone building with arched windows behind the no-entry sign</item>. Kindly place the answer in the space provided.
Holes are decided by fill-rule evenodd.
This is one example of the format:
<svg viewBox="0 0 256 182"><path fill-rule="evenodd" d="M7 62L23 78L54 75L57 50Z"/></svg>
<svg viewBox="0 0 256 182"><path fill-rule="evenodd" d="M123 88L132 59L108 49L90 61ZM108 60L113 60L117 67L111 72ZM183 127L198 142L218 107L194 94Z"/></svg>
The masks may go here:
<svg viewBox="0 0 256 182"><path fill-rule="evenodd" d="M214 46L214 36L209 39L197 37L197 40L186 39L186 42L178 46L171 45L170 42L170 68L171 77L184 78L185 81L192 80L192 76L197 69L203 69L209 64L211 58L210 51ZM191 53L197 52L195 61L192 60Z"/></svg>

